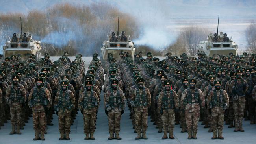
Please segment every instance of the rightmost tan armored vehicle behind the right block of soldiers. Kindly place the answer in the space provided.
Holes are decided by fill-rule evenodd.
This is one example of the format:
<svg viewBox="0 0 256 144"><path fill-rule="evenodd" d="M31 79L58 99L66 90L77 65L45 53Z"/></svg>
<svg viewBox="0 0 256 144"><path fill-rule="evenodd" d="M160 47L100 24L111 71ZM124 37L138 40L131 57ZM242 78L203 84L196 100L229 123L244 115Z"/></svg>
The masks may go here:
<svg viewBox="0 0 256 144"><path fill-rule="evenodd" d="M208 35L208 39L206 41L200 41L197 46L197 53L205 54L210 57L214 57L217 55L228 55L232 52L234 55L237 55L238 46L236 42L232 41L223 41L224 35L220 32L217 35L219 41L214 42L214 36L211 33Z"/></svg>

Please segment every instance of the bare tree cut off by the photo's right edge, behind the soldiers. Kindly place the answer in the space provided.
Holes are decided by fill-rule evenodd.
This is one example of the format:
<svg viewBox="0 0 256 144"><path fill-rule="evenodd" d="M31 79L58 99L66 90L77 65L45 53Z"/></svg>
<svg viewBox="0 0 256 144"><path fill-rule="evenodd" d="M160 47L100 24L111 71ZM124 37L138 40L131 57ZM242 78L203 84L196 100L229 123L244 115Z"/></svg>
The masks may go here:
<svg viewBox="0 0 256 144"><path fill-rule="evenodd" d="M256 24L253 22L250 24L245 31L246 39L247 39L247 47L246 49L249 52L256 53Z"/></svg>

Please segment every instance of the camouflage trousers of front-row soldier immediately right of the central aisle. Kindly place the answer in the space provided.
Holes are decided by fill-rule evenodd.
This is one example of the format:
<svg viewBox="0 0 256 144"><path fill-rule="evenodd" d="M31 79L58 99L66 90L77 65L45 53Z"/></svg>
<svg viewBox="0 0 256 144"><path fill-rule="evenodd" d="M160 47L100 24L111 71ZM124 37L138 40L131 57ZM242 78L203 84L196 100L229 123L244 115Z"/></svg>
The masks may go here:
<svg viewBox="0 0 256 144"><path fill-rule="evenodd" d="M121 113L108 113L108 127L110 133L120 131L120 120Z"/></svg>

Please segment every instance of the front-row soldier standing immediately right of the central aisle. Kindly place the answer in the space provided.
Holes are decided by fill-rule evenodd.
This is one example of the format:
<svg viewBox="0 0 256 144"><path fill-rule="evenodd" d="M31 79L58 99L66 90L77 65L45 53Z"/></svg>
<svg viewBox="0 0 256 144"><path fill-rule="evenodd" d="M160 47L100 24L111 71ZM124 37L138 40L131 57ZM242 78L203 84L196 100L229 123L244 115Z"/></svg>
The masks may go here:
<svg viewBox="0 0 256 144"><path fill-rule="evenodd" d="M104 96L104 107L105 112L108 115L108 125L110 133L110 137L108 138L108 140L112 140L114 138L116 138L117 140L121 140L122 138L119 137L120 120L121 115L124 113L125 97L122 90L117 89L117 79L112 79L110 85L111 89L108 90Z"/></svg>

